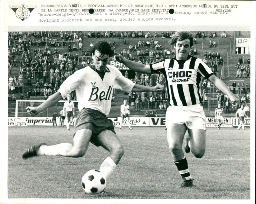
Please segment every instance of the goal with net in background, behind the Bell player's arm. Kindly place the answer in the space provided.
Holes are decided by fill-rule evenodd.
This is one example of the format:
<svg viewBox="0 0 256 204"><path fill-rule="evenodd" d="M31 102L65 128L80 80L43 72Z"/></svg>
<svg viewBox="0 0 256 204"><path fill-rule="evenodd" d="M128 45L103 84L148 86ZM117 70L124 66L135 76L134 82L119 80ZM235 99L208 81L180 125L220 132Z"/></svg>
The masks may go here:
<svg viewBox="0 0 256 204"><path fill-rule="evenodd" d="M28 107L28 106L37 107L40 104L42 104L44 101L45 100L16 100L15 121L17 121L17 119L21 118L21 117L25 117L25 118L31 117L28 114L26 107ZM52 119L52 115L54 113L56 113L56 115L57 115L56 120L57 120L57 125L58 125L58 118L60 117L60 111L63 110L63 106L64 106L65 102L66 102L65 100L60 100L56 104L52 105L49 108L46 108L41 113L37 114L35 117L42 117L43 120ZM79 110L77 108L78 101L73 101L73 102L74 102L74 106L75 106L74 117L76 117L77 114L79 113Z"/></svg>

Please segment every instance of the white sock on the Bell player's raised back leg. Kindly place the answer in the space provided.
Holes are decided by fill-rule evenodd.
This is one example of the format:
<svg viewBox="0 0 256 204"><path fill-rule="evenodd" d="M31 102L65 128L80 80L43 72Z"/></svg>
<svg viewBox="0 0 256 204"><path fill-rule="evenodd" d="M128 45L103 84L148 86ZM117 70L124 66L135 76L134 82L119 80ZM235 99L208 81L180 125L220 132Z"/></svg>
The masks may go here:
<svg viewBox="0 0 256 204"><path fill-rule="evenodd" d="M69 143L60 143L58 145L51 145L51 146L42 145L42 146L40 146L40 148L37 152L37 155L67 156L68 145L70 145L70 144Z"/></svg>

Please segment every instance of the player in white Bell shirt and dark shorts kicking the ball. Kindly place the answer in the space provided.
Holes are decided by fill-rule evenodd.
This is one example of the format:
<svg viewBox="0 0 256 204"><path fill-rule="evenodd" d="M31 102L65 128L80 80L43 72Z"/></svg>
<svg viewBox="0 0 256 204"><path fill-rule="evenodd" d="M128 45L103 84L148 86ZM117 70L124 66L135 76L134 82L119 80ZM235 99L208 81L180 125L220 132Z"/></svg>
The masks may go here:
<svg viewBox="0 0 256 204"><path fill-rule="evenodd" d="M97 42L92 48L93 65L70 75L61 84L60 89L40 106L26 108L29 115L35 116L76 90L80 112L76 119L73 144L33 145L22 155L23 159L41 155L82 157L91 142L110 152L101 164L100 171L105 177L114 171L124 154L124 149L116 136L113 122L106 116L110 111L113 89L118 88L129 93L131 91L160 91L164 89L164 86L160 84L154 87L142 86L125 78L116 67L108 65L108 59L113 54L114 50L111 49L109 43Z"/></svg>

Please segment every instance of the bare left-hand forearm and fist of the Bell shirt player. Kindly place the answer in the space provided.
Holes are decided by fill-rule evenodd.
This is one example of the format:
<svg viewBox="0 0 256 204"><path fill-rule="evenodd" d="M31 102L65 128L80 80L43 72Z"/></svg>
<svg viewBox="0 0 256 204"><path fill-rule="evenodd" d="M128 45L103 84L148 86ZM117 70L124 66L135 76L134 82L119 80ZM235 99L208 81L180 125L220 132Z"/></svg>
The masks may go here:
<svg viewBox="0 0 256 204"><path fill-rule="evenodd" d="M56 93L52 94L52 96L47 98L47 100L44 101L44 103L42 103L40 106L37 106L37 107L28 106L28 107L26 107L26 109L27 109L29 115L35 116L35 115L39 114L40 112L42 112L43 110L45 110L46 108L57 103L61 99L62 99L62 96L61 96L60 92L57 91Z"/></svg>

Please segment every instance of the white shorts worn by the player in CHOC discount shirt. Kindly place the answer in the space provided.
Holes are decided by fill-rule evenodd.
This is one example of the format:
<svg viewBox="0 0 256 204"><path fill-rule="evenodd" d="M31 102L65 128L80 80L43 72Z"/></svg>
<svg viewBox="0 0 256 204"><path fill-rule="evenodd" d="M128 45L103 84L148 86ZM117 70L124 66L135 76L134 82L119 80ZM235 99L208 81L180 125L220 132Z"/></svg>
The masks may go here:
<svg viewBox="0 0 256 204"><path fill-rule="evenodd" d="M206 130L206 117L203 106L169 106L166 110L166 127L169 124L185 124L188 129Z"/></svg>

